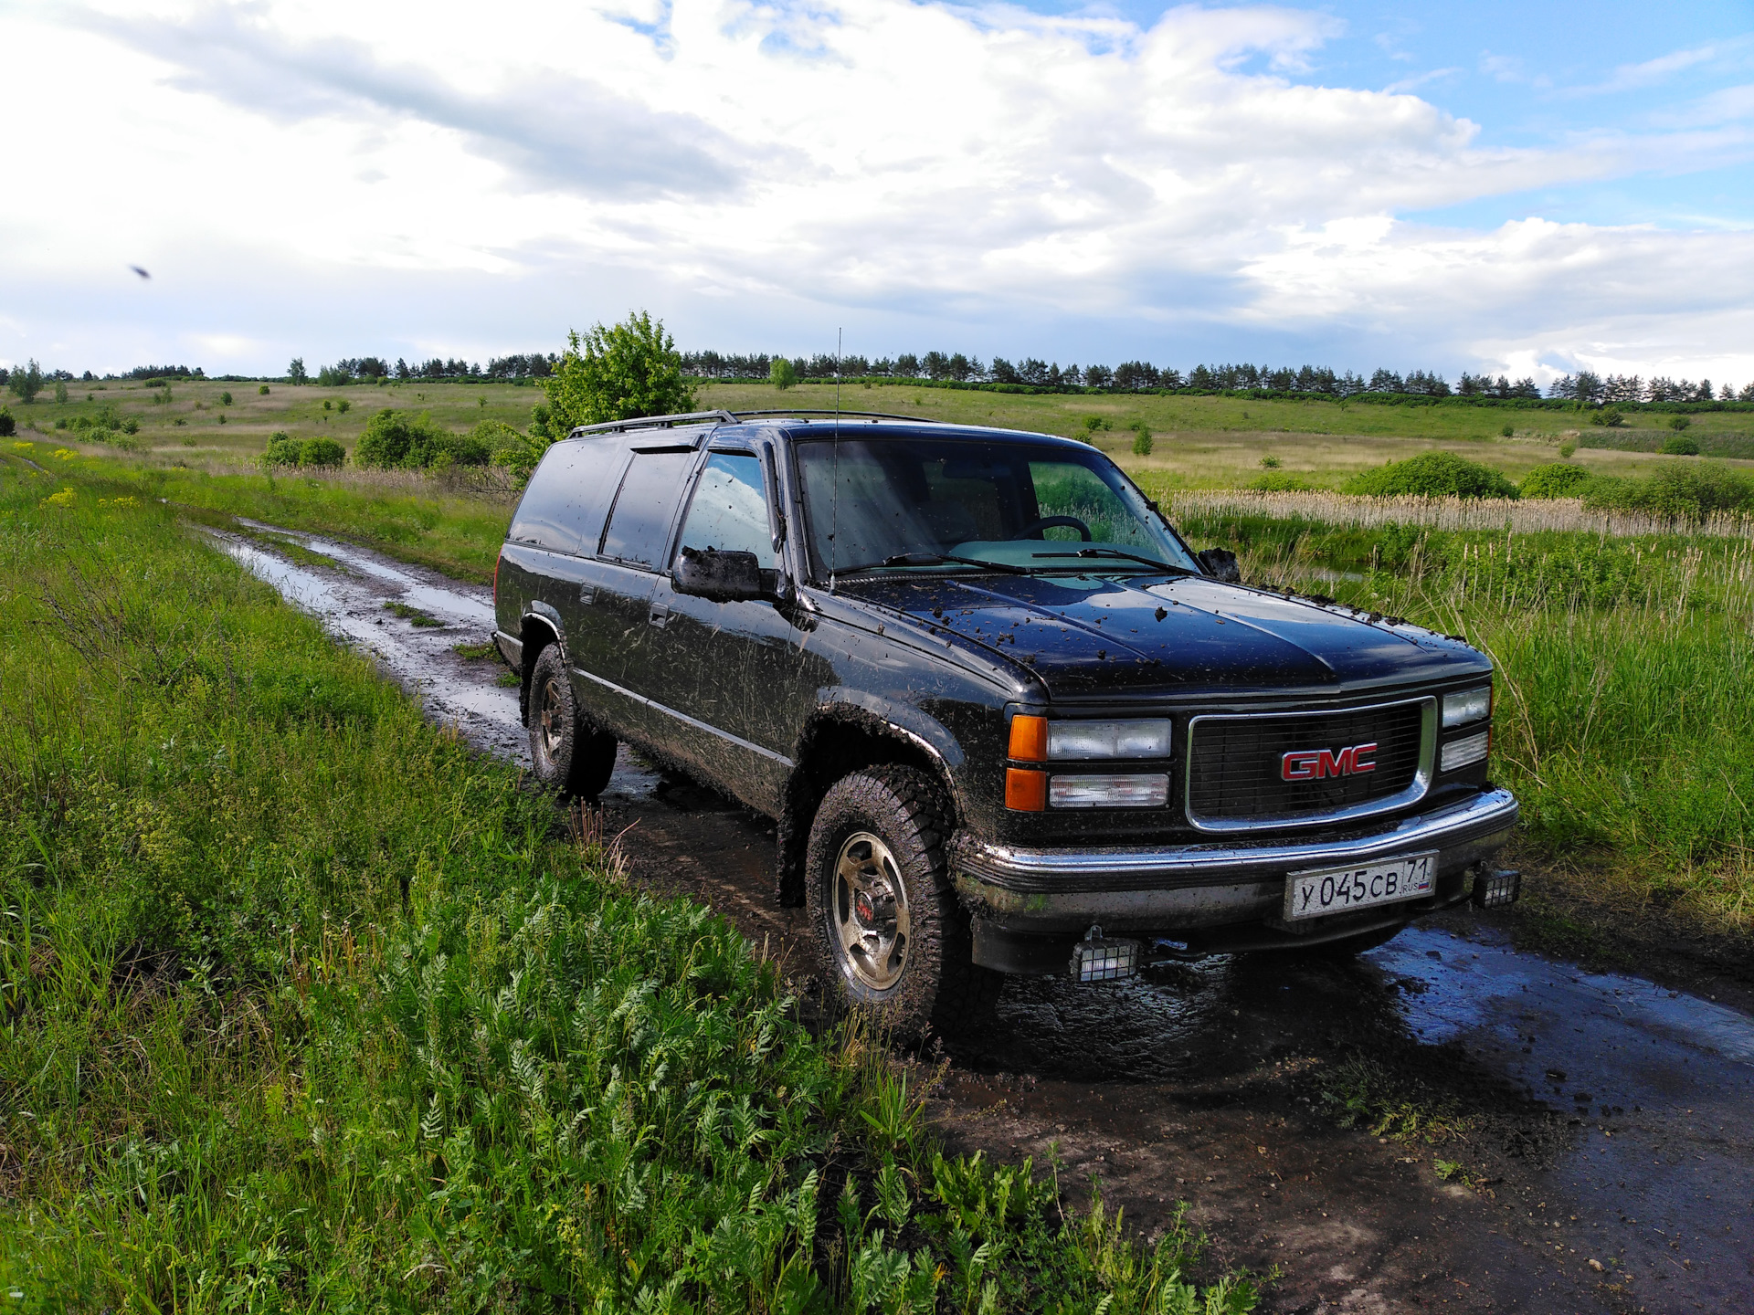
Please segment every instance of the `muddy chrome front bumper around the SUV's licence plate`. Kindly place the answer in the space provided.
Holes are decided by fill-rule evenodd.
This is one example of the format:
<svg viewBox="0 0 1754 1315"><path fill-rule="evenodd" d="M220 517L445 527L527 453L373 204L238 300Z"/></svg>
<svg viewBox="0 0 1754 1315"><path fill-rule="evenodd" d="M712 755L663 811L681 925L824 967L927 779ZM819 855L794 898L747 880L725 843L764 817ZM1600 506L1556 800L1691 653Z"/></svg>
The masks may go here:
<svg viewBox="0 0 1754 1315"><path fill-rule="evenodd" d="M1456 878L1510 840L1515 822L1510 791L1489 789L1342 840L1012 849L963 835L951 847L951 866L961 899L995 926L1052 933L1100 922L1105 931L1173 931L1272 919L1287 873L1310 868L1437 850L1440 882Z"/></svg>

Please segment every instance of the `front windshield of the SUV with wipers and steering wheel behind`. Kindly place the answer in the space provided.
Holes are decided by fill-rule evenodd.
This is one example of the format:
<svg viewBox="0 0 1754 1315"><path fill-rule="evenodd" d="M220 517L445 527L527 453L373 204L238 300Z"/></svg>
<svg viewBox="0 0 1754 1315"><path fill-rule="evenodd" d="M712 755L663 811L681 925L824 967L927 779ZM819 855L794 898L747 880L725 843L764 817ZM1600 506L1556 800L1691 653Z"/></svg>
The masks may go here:
<svg viewBox="0 0 1754 1315"><path fill-rule="evenodd" d="M812 438L796 452L819 579L972 563L1028 572L1200 570L1096 449L907 435Z"/></svg>

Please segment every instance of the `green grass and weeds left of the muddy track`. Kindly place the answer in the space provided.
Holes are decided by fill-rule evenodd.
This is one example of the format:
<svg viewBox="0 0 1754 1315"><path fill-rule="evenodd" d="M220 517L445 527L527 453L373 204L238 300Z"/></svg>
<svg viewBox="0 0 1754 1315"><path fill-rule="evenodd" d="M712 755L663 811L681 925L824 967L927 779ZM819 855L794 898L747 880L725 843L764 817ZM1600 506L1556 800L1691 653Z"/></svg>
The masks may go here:
<svg viewBox="0 0 1754 1315"><path fill-rule="evenodd" d="M9 1308L1254 1304L945 1159L884 1047L135 487L0 452Z"/></svg>

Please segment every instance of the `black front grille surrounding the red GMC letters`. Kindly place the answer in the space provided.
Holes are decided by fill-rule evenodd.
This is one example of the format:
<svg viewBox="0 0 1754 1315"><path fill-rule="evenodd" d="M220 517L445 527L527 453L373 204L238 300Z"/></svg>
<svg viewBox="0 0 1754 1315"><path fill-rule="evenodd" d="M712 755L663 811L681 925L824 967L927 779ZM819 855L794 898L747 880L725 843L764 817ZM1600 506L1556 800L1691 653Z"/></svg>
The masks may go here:
<svg viewBox="0 0 1754 1315"><path fill-rule="evenodd" d="M1187 821L1210 829L1314 821L1396 807L1424 793L1431 700L1323 714L1194 717L1187 742ZM1338 754L1375 742L1375 771L1284 780L1287 752ZM1410 801L1405 800L1405 801Z"/></svg>

